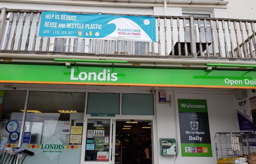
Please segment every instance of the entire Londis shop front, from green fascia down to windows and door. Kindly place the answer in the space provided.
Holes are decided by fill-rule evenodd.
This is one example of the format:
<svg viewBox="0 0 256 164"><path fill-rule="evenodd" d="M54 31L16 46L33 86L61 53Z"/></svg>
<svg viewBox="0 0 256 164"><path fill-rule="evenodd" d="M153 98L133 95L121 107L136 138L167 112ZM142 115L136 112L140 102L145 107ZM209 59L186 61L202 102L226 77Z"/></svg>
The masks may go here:
<svg viewBox="0 0 256 164"><path fill-rule="evenodd" d="M0 138L34 153L24 164L140 164L147 142L153 164L216 163L214 134L239 130L235 92L256 88L254 71L0 68Z"/></svg>

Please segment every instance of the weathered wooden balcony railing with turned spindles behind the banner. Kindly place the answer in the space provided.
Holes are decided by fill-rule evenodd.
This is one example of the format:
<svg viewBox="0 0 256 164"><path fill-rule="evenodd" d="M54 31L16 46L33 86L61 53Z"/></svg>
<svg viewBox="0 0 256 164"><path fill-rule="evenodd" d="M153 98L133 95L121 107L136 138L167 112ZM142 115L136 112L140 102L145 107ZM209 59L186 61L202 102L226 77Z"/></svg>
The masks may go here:
<svg viewBox="0 0 256 164"><path fill-rule="evenodd" d="M2 8L0 52L256 58L256 20L156 16L157 42L38 37L41 12Z"/></svg>

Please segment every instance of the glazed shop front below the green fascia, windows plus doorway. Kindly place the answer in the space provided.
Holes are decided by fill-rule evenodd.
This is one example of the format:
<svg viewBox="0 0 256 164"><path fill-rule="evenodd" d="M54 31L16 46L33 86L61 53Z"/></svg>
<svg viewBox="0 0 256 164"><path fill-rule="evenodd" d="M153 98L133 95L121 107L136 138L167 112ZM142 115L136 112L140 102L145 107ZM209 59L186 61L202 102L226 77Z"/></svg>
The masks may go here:
<svg viewBox="0 0 256 164"><path fill-rule="evenodd" d="M143 142L153 138L154 94L2 92L0 137L7 140L6 147L24 147L33 152L24 160L27 164L78 164L81 160L88 164L121 164L122 159L140 162ZM18 136L13 138L13 134ZM137 145L137 154L129 157L132 145L121 149L124 144Z"/></svg>

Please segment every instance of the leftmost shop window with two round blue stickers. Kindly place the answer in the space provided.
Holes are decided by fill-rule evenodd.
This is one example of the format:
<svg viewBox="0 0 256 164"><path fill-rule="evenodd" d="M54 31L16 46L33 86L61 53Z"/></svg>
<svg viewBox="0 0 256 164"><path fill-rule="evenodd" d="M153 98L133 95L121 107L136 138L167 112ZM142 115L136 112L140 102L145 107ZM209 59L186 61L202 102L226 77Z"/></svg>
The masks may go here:
<svg viewBox="0 0 256 164"><path fill-rule="evenodd" d="M0 90L0 139L8 147L18 146L25 100L26 91Z"/></svg>

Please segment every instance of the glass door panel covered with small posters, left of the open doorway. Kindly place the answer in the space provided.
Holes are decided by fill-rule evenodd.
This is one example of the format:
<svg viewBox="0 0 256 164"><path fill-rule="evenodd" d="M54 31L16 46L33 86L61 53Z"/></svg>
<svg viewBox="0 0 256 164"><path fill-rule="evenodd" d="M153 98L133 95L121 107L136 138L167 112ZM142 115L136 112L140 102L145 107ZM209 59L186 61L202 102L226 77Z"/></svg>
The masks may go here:
<svg viewBox="0 0 256 164"><path fill-rule="evenodd" d="M109 119L88 119L85 161L109 161Z"/></svg>

